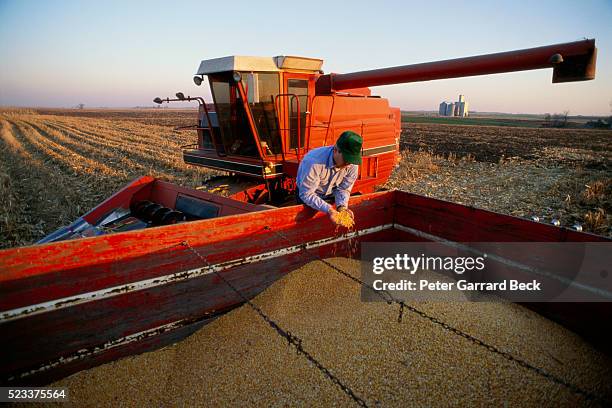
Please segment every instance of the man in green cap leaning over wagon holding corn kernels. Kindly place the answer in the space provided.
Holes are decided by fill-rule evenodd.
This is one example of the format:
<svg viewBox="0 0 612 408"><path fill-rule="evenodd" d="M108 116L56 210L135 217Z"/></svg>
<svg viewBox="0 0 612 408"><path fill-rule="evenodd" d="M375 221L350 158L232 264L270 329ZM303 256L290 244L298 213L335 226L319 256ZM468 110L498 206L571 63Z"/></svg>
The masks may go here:
<svg viewBox="0 0 612 408"><path fill-rule="evenodd" d="M334 146L309 151L300 163L297 174L297 202L329 215L338 223L338 211L348 209L349 196L359 165L363 140L355 132L343 132ZM336 208L326 201L334 200Z"/></svg>

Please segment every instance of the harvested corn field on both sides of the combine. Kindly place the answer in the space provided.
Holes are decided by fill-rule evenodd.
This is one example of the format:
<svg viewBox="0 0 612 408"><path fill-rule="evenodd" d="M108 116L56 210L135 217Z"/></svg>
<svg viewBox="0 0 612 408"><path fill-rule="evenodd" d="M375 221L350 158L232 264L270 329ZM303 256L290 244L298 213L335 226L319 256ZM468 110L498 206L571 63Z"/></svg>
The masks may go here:
<svg viewBox="0 0 612 408"><path fill-rule="evenodd" d="M194 110L0 110L0 248L36 242L145 174L196 187ZM612 132L404 123L398 188L612 236Z"/></svg>

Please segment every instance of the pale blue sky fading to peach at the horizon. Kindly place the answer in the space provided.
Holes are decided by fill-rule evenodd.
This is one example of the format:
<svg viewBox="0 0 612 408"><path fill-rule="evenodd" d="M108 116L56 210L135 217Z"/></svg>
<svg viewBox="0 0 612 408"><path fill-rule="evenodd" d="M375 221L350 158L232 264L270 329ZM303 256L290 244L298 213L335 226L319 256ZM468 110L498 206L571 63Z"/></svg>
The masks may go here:
<svg viewBox="0 0 612 408"><path fill-rule="evenodd" d="M323 58L325 72L458 58L596 38L597 78L551 71L373 88L392 105L433 110L466 95L478 111L611 114L612 1L0 0L0 105L152 106L193 85L200 60ZM297 4L297 2L296 2Z"/></svg>

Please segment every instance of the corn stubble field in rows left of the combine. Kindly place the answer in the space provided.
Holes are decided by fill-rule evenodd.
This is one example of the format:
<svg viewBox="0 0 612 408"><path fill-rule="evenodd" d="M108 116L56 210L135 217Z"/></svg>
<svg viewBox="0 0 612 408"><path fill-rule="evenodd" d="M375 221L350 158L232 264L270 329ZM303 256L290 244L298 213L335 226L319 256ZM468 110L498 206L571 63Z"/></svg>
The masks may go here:
<svg viewBox="0 0 612 408"><path fill-rule="evenodd" d="M157 124L193 111L72 112L0 111L0 248L36 242L142 175L196 187L214 174L183 163L192 133Z"/></svg>

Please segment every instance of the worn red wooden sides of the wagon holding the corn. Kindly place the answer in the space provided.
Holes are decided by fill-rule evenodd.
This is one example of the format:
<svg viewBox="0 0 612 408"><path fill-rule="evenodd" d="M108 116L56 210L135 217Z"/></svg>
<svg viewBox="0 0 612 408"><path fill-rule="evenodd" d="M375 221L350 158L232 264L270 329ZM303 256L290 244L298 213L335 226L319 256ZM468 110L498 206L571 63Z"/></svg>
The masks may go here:
<svg viewBox="0 0 612 408"><path fill-rule="evenodd" d="M139 180L97 210L165 187L157 193L176 202L172 185ZM359 256L362 242L609 242L400 191L354 197L351 208L354 231L300 205L0 251L0 381L45 384L176 342L307 262ZM610 340L595 324L611 317L609 303L532 306Z"/></svg>

